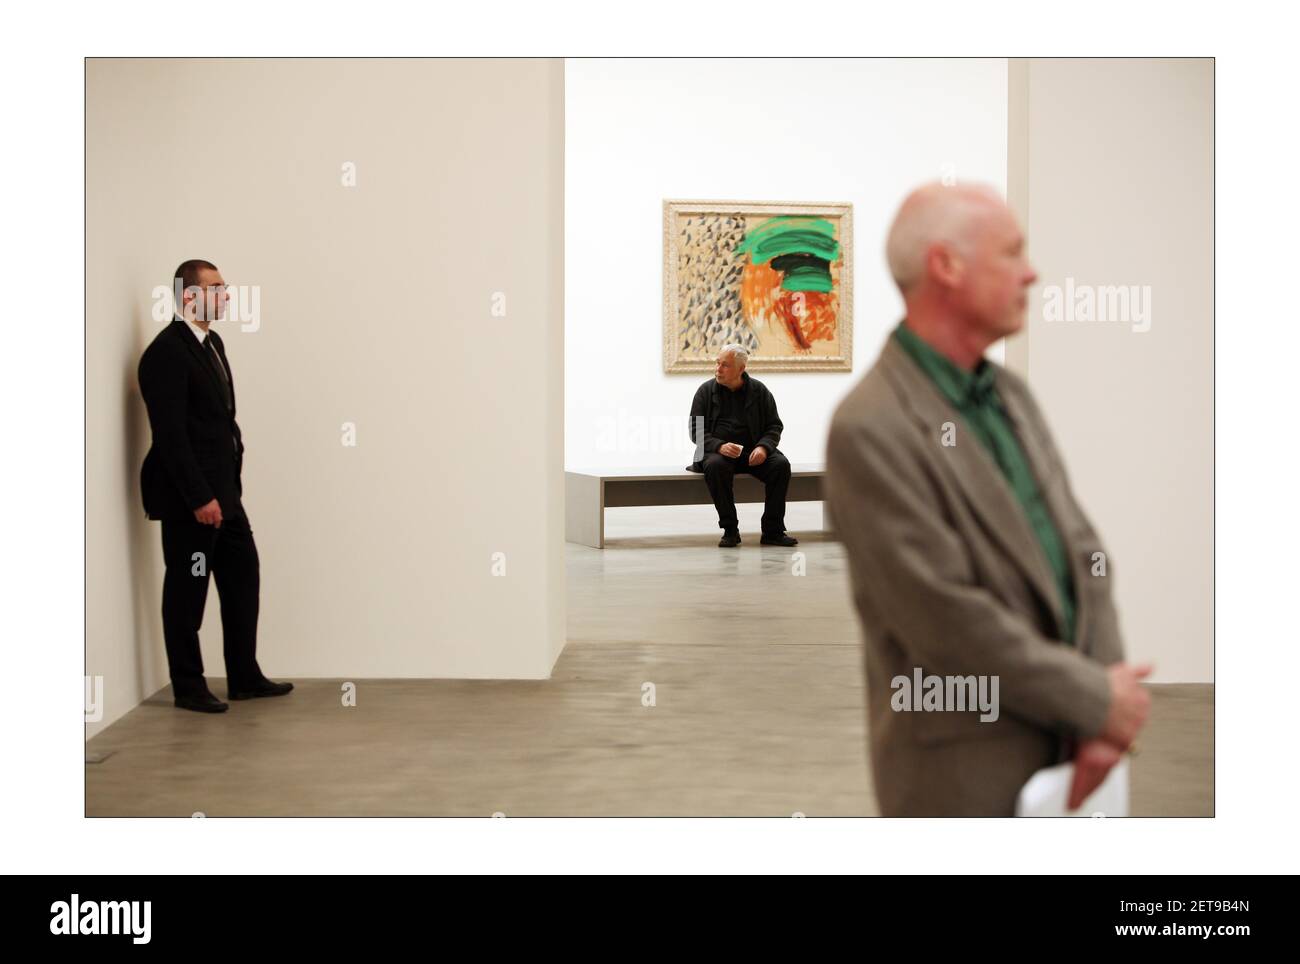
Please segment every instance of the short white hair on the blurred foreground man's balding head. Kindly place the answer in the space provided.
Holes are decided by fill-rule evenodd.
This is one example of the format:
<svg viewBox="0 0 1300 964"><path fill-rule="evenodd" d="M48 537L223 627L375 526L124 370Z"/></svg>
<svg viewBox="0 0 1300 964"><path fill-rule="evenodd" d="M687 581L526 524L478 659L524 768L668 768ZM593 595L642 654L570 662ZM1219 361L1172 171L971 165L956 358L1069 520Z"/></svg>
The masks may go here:
<svg viewBox="0 0 1300 964"><path fill-rule="evenodd" d="M931 244L945 243L970 251L972 227L989 201L1002 204L1001 195L985 184L948 186L939 182L907 195L894 216L885 239L885 260L900 291L907 291L926 274L926 253Z"/></svg>

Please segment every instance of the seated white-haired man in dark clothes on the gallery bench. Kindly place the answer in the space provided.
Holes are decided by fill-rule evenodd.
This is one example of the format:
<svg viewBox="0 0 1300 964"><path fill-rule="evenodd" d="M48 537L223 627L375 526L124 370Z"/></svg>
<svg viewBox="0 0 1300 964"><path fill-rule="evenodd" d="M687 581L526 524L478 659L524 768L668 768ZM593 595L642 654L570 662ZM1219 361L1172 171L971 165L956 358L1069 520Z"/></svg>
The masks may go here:
<svg viewBox="0 0 1300 964"><path fill-rule="evenodd" d="M790 461L776 448L781 420L767 386L745 372L749 352L728 344L718 355L714 377L696 390L690 403L690 440L703 457L690 465L703 472L708 495L718 509L723 548L740 546L740 521L732 482L748 472L763 483L763 546L798 546L785 534L785 494L790 487ZM701 438L702 437L702 438Z"/></svg>

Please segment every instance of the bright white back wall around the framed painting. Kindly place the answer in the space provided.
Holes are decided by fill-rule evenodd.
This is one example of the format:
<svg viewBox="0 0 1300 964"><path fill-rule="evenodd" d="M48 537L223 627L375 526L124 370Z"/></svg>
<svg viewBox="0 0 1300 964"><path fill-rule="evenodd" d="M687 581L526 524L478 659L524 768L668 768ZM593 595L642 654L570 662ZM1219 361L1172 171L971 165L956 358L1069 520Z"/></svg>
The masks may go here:
<svg viewBox="0 0 1300 964"><path fill-rule="evenodd" d="M1005 60L568 60L566 465L690 461L710 374L663 372L666 199L853 204L853 372L751 370L781 451L820 461L836 403L902 314L893 210L945 175L1005 190L1006 94Z"/></svg>

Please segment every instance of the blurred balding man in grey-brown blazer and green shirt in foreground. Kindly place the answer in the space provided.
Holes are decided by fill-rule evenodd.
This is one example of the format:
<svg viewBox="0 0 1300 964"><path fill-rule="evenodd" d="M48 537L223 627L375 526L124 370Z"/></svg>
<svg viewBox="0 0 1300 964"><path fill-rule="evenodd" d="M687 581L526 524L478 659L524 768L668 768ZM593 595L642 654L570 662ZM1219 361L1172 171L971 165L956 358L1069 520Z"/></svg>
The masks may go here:
<svg viewBox="0 0 1300 964"><path fill-rule="evenodd" d="M1065 760L1078 807L1144 725L1150 668L1123 661L1110 559L1041 412L984 359L1024 326L1024 238L992 190L928 184L887 256L906 317L836 409L826 479L866 638L881 812L1010 816L1026 781ZM924 707L900 699L901 678L931 676L959 682ZM944 704L972 678L996 681L993 720Z"/></svg>

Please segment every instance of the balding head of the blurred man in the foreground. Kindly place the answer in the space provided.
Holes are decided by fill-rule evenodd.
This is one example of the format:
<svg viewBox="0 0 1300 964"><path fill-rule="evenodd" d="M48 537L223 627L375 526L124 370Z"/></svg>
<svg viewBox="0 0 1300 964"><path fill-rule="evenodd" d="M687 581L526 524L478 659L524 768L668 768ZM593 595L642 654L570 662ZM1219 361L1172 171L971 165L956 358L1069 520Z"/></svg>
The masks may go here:
<svg viewBox="0 0 1300 964"><path fill-rule="evenodd" d="M936 339L983 351L1024 326L1037 275L1006 201L985 184L930 183L904 200L885 242L907 321Z"/></svg>

